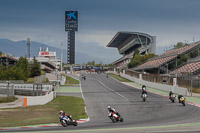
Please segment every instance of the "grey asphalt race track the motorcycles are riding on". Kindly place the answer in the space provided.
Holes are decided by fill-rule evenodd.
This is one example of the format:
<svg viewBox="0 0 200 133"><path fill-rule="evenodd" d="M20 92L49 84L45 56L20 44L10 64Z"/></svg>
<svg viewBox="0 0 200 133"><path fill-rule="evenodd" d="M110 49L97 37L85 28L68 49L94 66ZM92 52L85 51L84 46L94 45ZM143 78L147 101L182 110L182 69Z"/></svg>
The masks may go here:
<svg viewBox="0 0 200 133"><path fill-rule="evenodd" d="M86 80L81 80L87 113L90 121L79 124L77 127L46 127L32 129L16 129L12 131L39 131L39 132L136 132L132 128L157 127L160 132L167 131L167 125L179 125L184 123L200 123L200 108L180 103L171 103L169 99L148 93L147 101L143 102L141 90L126 86L105 74L88 74ZM110 105L124 118L122 123L112 123L107 117L107 106ZM187 125L187 124L186 124ZM160 127L159 127L160 126ZM173 132L199 132L188 126L183 128L171 127ZM197 126L199 127L199 126ZM149 132L155 132L150 129ZM8 130L9 131L9 130ZM140 132L137 131L137 132ZM4 131L5 132L5 131ZM147 132L147 130L145 131ZM156 131L159 133L159 130Z"/></svg>

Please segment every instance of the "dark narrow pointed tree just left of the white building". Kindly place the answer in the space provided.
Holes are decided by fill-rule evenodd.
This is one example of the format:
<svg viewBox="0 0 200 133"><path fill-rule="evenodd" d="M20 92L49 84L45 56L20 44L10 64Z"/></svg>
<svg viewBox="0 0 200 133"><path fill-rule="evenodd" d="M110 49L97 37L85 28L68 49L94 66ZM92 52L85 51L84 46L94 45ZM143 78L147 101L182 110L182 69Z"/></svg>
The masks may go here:
<svg viewBox="0 0 200 133"><path fill-rule="evenodd" d="M33 64L31 66L31 77L40 76L40 75L41 75L40 63L34 57Z"/></svg>

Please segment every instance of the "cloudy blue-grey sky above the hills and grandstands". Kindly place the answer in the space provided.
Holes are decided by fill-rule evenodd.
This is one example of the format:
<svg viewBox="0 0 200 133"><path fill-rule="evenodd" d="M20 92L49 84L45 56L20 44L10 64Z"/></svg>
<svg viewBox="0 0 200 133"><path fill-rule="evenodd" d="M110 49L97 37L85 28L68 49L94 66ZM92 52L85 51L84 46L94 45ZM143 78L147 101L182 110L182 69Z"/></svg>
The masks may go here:
<svg viewBox="0 0 200 133"><path fill-rule="evenodd" d="M199 0L0 0L0 38L31 37L60 47L64 12L76 9L77 45L105 47L118 31L133 31L154 35L157 46L166 47L200 40L199 7Z"/></svg>

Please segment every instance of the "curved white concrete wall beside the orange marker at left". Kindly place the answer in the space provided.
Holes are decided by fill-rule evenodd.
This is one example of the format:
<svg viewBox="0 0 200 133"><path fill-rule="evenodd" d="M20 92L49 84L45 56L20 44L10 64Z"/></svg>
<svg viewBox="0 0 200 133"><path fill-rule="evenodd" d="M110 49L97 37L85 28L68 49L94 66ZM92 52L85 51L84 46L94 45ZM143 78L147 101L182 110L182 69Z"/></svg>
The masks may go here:
<svg viewBox="0 0 200 133"><path fill-rule="evenodd" d="M43 105L53 100L54 92L44 96L27 96L27 106L31 105Z"/></svg>

